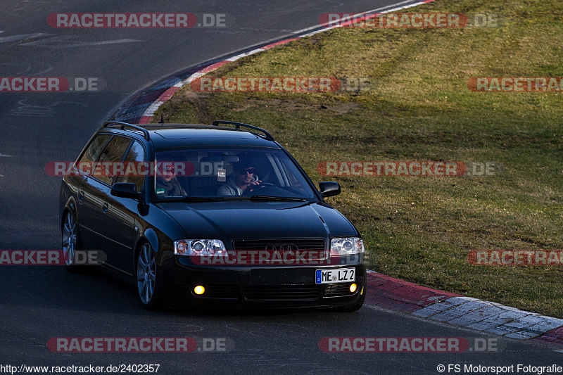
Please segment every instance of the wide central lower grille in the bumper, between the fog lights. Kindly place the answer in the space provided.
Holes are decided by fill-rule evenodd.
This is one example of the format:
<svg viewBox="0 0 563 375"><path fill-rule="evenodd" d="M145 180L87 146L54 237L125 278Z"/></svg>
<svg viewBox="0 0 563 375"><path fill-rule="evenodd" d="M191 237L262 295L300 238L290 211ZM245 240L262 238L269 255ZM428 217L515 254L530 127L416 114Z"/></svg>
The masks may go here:
<svg viewBox="0 0 563 375"><path fill-rule="evenodd" d="M243 286L247 300L316 300L320 285L258 285Z"/></svg>

